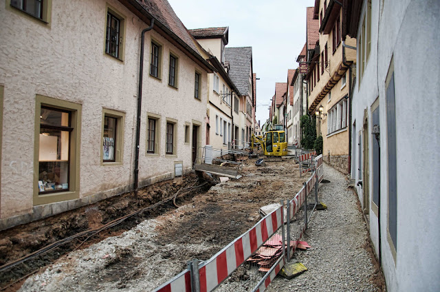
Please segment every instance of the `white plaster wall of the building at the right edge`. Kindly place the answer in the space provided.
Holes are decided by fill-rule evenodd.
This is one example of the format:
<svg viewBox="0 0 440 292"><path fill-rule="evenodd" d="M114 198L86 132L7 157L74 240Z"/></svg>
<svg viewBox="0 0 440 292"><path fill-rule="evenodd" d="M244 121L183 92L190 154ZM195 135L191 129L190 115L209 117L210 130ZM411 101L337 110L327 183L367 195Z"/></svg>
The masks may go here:
<svg viewBox="0 0 440 292"><path fill-rule="evenodd" d="M434 113L440 110L440 57L432 54L432 49L440 45L437 33L440 4L438 1L407 0L386 2L380 7L379 1L373 1L372 15L371 56L362 83L354 89L353 121L356 122L358 139L364 108L369 108L371 117L371 104L380 96L382 267L387 289L439 291L440 235L437 229L440 215L437 206L440 200L437 190L440 187L440 163L437 152L440 146L440 127ZM377 23L380 23L379 35ZM377 37L380 39L378 46ZM397 122L396 261L386 240L388 197L385 81L392 58ZM371 126L370 122L370 129ZM370 145L373 142L370 135ZM353 141L352 145L357 147L358 141ZM355 153L358 156L358 149ZM358 169L357 157L352 161L355 163L354 169ZM355 178L358 180L357 171ZM370 215L371 238L377 251L377 218L372 211Z"/></svg>

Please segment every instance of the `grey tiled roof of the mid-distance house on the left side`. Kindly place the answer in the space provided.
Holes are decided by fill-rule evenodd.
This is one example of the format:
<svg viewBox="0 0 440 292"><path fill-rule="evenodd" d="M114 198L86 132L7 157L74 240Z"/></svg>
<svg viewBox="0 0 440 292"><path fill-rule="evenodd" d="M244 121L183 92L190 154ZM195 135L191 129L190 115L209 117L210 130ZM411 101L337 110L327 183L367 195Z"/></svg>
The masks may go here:
<svg viewBox="0 0 440 292"><path fill-rule="evenodd" d="M249 74L252 64L252 47L225 48L225 61L229 62L229 76L240 95L250 95Z"/></svg>

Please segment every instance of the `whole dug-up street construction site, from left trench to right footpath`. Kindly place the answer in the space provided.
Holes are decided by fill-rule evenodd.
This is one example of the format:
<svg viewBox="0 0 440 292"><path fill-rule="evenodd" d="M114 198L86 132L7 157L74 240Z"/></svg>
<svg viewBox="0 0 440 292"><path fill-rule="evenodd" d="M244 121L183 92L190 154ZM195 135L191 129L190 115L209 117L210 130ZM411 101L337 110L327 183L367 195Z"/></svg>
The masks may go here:
<svg viewBox="0 0 440 292"><path fill-rule="evenodd" d="M203 163L195 165L195 169L203 168L201 165L209 160L202 158ZM145 187L137 196L124 194L2 231L1 291L256 291L265 274L269 283L273 282L265 286L267 291L286 287L288 291L304 287L311 291L342 291L359 285L362 291L383 291L384 282L362 213L344 176L322 165L324 178L326 172L331 173L331 178L314 183L314 169L303 166L300 171L302 163L297 155L272 158L226 152L208 161L210 171L195 171ZM231 175L234 171L236 174ZM340 176L340 183L332 181L336 180L335 175ZM323 187L311 191L312 183ZM313 196L316 194L316 205L328 205L327 209L316 210L304 187ZM344 191L328 196L336 187ZM297 193L306 196L296 199ZM340 202L341 196L351 204ZM285 208L288 201L293 204L293 211ZM204 288L202 280L202 287L192 279L189 286L186 282L173 284L173 278L186 271L191 262L196 262L202 271L203 263L214 258L220 273L221 265L215 259L221 258L219 251L230 242L236 244L237 238L244 242L248 230L253 245L252 230L261 223L265 227L271 217L267 214L273 209L278 209L278 213L272 212L272 218L278 216L278 226L272 222L274 228L267 228L272 233L265 228L261 234L257 231L254 245L258 251L251 248L252 255L244 255L243 264L239 264L236 255L237 266L231 269L228 252L223 252L224 279L217 275L217 282L210 284L206 267ZM306 209L307 229L303 225ZM293 240L286 245L291 249L284 244L288 241L282 240L287 213L294 214L289 218L289 237ZM326 230L329 222L331 226ZM287 280L275 267L281 262L302 262L304 268ZM338 277L333 275L335 271ZM174 288L167 290L166 282Z"/></svg>

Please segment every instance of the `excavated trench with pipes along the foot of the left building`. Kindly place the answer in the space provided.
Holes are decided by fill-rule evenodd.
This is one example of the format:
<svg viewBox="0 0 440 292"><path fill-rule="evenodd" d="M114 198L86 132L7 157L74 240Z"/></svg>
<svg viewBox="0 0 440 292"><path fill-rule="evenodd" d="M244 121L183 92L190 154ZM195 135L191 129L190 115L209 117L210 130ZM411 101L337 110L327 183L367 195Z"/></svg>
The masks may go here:
<svg viewBox="0 0 440 292"><path fill-rule="evenodd" d="M122 194L96 202L93 205L87 205L50 218L0 231L0 266L3 266L17 261L25 255L39 251L39 249L47 247L47 245L53 244L58 240L90 229L99 229L115 219L134 211L148 208L167 198L174 197L176 194L178 195L175 196L174 200L166 200L166 202L155 205L151 209L141 211L109 229L96 234L92 233L91 236L80 236L23 263L17 264L11 269L1 271L0 289L15 291L19 289L28 275L47 267L62 255L78 249L78 247L80 249L89 247L91 244L100 242L104 238L118 236L124 231L135 227L143 220L160 216L166 213L166 211L176 209L175 205L184 205L195 196L205 194L213 185L210 181L203 185L203 187L194 187L201 184L198 180L199 178L195 174L188 174L183 178L175 178L174 180L167 180L144 187L138 192L137 198L135 198L133 193ZM190 191L187 191L188 189ZM121 258L130 256L132 255L125 253L120 255ZM136 259L133 258L129 262L135 264ZM125 268L130 269L130 267ZM115 261L113 264L109 264L109 269L101 277L103 280L106 278L111 279L114 276L113 272L120 269L118 261Z"/></svg>

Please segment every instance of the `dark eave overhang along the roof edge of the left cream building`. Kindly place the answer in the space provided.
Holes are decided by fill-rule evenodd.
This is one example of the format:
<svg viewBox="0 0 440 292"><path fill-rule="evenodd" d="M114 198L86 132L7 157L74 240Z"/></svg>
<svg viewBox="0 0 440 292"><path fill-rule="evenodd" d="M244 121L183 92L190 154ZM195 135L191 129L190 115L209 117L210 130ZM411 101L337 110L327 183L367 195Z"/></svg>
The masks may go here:
<svg viewBox="0 0 440 292"><path fill-rule="evenodd" d="M184 52L187 56L192 59L192 61L195 61L200 67L203 68L203 70L206 70L208 73L216 72L217 70L212 67L208 61L203 59L203 57L198 53L195 52L188 44L186 44L182 39L177 36L174 32L172 32L169 28L166 27L161 21L157 20L155 17L153 17L152 14L150 14L143 6L140 5L140 3L137 3L136 0L119 0L120 3L122 3L126 8L128 8L131 12L136 14L137 17L142 19L144 23L147 25L150 25L151 19L154 20L154 26L153 30L155 30L160 35L164 36L164 38L169 41L170 43L173 43L179 50Z"/></svg>

